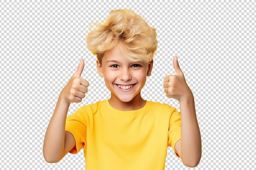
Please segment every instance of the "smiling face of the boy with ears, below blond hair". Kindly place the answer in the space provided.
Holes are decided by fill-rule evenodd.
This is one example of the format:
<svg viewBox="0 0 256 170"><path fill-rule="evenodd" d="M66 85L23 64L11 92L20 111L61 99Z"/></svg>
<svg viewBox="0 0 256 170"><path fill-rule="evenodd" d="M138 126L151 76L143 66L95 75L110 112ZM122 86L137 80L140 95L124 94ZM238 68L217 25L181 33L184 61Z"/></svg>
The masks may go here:
<svg viewBox="0 0 256 170"><path fill-rule="evenodd" d="M115 100L115 103L131 102L143 100L140 92L146 83L146 76L151 74L152 65L153 61L150 64L129 62L116 47L105 52L101 64L97 61L97 70L105 78L111 92L110 100Z"/></svg>

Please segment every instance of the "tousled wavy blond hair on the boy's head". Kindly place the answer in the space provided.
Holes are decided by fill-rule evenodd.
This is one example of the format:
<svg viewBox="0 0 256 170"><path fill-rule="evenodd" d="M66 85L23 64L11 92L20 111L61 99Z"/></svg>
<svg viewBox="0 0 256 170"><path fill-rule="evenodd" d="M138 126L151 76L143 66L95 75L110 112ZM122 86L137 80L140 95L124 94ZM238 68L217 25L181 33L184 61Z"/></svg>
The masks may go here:
<svg viewBox="0 0 256 170"><path fill-rule="evenodd" d="M87 35L87 47L101 64L104 52L119 46L130 62L150 63L157 49L157 33L137 13L129 9L111 10L104 24Z"/></svg>

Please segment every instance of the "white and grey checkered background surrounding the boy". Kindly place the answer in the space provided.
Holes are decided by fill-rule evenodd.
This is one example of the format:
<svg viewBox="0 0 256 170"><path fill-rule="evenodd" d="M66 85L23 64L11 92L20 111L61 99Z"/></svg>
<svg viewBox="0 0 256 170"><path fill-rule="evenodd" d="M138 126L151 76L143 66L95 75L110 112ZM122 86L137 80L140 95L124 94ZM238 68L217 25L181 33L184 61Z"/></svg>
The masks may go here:
<svg viewBox="0 0 256 170"><path fill-rule="evenodd" d="M248 2L75 2L0 1L0 168L81 169L83 151L47 163L42 147L58 94L85 60L90 82L82 105L110 97L86 48L89 24L111 9L129 8L157 29L153 74L142 95L168 103L163 79L174 74L177 55L193 91L202 135L195 169L255 167L255 7ZM166 170L189 169L168 148Z"/></svg>

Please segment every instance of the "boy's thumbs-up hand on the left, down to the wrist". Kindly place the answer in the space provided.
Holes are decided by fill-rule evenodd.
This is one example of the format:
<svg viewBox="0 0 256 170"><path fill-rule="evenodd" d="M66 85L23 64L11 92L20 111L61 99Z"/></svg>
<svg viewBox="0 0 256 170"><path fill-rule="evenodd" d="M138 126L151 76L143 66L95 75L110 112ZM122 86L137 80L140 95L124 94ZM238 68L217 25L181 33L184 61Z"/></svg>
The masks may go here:
<svg viewBox="0 0 256 170"><path fill-rule="evenodd" d="M83 59L81 59L76 72L72 75L70 81L61 91L60 96L63 96L67 103L81 102L82 99L85 97L85 93L88 91L88 81L81 78L83 68L84 61Z"/></svg>

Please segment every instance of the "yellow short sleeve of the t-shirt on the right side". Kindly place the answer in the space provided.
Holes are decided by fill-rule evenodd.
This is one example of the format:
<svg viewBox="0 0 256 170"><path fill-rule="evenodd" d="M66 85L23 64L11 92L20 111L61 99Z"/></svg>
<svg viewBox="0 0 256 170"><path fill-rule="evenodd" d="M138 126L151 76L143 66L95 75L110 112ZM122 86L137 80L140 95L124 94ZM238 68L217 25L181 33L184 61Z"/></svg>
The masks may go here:
<svg viewBox="0 0 256 170"><path fill-rule="evenodd" d="M176 156L175 144L178 140L181 139L181 120L180 120L180 112L175 109L171 114L171 118L169 121L169 131L168 131L168 146L173 148L173 151Z"/></svg>

